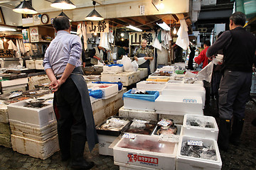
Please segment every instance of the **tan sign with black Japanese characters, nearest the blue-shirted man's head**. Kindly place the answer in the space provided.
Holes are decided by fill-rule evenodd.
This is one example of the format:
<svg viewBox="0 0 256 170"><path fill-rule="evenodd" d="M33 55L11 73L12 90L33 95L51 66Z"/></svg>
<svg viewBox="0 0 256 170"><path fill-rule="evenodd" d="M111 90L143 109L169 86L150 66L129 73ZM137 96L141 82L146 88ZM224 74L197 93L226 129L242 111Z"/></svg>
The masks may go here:
<svg viewBox="0 0 256 170"><path fill-rule="evenodd" d="M87 33L109 33L109 21L87 21L86 31Z"/></svg>

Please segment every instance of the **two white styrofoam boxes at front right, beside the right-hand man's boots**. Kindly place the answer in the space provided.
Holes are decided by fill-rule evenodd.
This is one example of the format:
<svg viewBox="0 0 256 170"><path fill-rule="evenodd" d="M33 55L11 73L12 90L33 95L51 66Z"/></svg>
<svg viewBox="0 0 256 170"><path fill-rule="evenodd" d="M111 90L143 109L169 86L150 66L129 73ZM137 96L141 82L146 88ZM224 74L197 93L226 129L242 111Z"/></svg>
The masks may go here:
<svg viewBox="0 0 256 170"><path fill-rule="evenodd" d="M188 121L198 121L201 126L189 125ZM206 125L210 125L211 128L205 128ZM220 152L218 149L218 125L215 118L204 115L185 115L183 120L183 126L181 128L181 135L178 144L178 151L176 157L176 169L221 169L222 162L220 158ZM188 157L181 155L181 145L188 140L203 142L203 145L213 146L216 153L216 160L203 159L198 157Z"/></svg>

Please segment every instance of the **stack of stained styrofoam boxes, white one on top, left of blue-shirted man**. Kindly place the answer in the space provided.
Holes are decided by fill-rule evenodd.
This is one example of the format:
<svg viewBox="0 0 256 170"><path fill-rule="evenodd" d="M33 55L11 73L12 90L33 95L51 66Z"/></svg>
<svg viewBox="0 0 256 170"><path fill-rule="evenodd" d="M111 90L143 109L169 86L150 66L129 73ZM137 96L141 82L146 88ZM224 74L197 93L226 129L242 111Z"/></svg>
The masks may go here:
<svg viewBox="0 0 256 170"><path fill-rule="evenodd" d="M53 97L53 94L42 98ZM8 106L11 145L14 151L47 159L58 151L57 122L52 101L43 108L24 107L26 101Z"/></svg>

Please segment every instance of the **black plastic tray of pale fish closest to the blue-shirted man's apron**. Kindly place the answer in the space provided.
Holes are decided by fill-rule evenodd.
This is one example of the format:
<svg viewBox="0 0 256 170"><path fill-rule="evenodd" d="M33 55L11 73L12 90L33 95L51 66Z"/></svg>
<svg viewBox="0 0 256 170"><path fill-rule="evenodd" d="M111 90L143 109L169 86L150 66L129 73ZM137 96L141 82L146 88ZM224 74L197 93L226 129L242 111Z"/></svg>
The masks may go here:
<svg viewBox="0 0 256 170"><path fill-rule="evenodd" d="M122 130L119 130L119 131L114 131L114 130L101 130L99 129L101 125L103 125L104 123L107 122L107 120L111 119L111 118L119 118L119 119L122 119L122 120L129 120L129 123L127 123L127 125L124 125L124 128L127 128L127 126L131 125L132 123L132 118L126 118L126 117L119 117L119 116L116 116L116 115L113 115L113 116L110 116L110 118L107 118L104 122L100 123L100 125L97 125L96 126L96 131L97 131L97 134L100 134L100 135L109 135L109 136L119 136L122 132L122 130L124 128L122 128Z"/></svg>

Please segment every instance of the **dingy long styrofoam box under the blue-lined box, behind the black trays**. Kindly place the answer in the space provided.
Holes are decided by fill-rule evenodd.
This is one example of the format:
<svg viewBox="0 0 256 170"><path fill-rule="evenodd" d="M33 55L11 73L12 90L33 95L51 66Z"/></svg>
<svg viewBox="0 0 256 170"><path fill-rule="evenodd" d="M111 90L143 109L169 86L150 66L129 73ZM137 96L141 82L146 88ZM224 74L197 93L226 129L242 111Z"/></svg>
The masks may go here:
<svg viewBox="0 0 256 170"><path fill-rule="evenodd" d="M122 108L119 108L119 116L128 118L158 120L158 114L156 114L156 111L136 111L131 109L124 109L124 106L122 106Z"/></svg>

